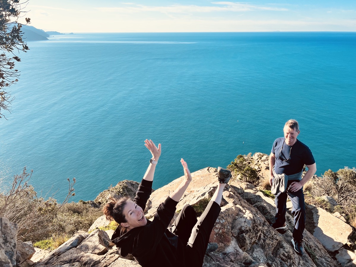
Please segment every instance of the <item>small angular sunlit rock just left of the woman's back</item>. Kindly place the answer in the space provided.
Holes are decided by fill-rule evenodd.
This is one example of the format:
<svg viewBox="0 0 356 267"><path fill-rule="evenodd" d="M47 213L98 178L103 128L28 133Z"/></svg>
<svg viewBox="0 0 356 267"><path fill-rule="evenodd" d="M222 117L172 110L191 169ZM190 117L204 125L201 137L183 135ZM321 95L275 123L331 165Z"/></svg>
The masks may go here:
<svg viewBox="0 0 356 267"><path fill-rule="evenodd" d="M103 230L94 230L91 234L79 245L78 249L86 253L103 255L110 248L111 240L108 234Z"/></svg>

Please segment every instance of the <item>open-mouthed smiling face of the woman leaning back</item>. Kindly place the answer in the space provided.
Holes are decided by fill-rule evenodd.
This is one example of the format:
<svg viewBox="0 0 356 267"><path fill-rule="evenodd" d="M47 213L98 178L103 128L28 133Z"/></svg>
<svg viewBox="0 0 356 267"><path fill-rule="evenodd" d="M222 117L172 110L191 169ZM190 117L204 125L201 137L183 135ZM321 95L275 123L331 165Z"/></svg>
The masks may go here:
<svg viewBox="0 0 356 267"><path fill-rule="evenodd" d="M142 208L132 200L127 201L124 208L124 215L126 223L121 223L121 225L127 227L127 230L147 224L147 219L145 214L143 214Z"/></svg>

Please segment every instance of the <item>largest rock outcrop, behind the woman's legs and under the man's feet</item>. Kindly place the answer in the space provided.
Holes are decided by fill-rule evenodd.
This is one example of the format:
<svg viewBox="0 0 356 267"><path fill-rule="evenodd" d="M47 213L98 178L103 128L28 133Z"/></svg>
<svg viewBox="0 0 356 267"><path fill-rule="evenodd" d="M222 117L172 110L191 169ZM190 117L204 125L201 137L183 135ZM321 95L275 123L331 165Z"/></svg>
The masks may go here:
<svg viewBox="0 0 356 267"><path fill-rule="evenodd" d="M216 189L216 169L205 168L194 172L192 182L177 205L177 210L185 204L196 204L202 198L210 197ZM174 180L168 185L157 189L150 198L151 207L147 214L151 218L157 211L160 203L167 198L181 182L183 177ZM234 188L248 188L253 193L236 192ZM239 191L240 191L239 190ZM205 257L208 263L205 266L337 266L337 263L329 256L323 246L311 234L307 234L305 245L308 253L303 257L298 256L292 247L293 219L290 216L290 230L283 234L269 226L267 218L274 219L276 212L273 205L266 203L253 185L232 181L230 187L224 191L224 201L215 227L210 235L210 242L219 245L215 253L209 253ZM242 197L248 197L262 213ZM264 206L261 205L264 203ZM315 257L314 257L315 255ZM208 264L208 265L206 265Z"/></svg>

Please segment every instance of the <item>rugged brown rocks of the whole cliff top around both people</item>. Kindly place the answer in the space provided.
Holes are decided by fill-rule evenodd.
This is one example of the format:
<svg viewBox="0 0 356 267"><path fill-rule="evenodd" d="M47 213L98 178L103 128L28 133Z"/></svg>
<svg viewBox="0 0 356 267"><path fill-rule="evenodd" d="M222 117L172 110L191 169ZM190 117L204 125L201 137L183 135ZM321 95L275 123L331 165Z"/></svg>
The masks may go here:
<svg viewBox="0 0 356 267"><path fill-rule="evenodd" d="M264 156L255 156L255 166L261 175L267 168ZM215 191L216 168L201 169L192 173L192 177L192 182L177 205L177 211L185 204L198 205L205 202ZM153 217L158 205L182 179L183 177L180 177L152 193L145 211L148 219ZM110 189L110 193L115 193L115 188ZM131 195L132 191L137 189L137 183L123 181L117 188L120 188L117 194L124 194L123 188L128 188ZM107 196L103 193L98 199L104 203ZM286 215L288 228L283 231L276 231L269 226L274 220L275 212L274 200L266 197L252 184L230 181L223 193L221 213L210 235L210 242L217 242L219 248L205 255L203 266L356 266L356 255L353 251L354 230L342 220L340 214L330 214L315 206L309 206L309 231L304 232L305 253L304 256L299 256L291 244L293 218L290 212ZM91 229L105 224L108 222L103 217L98 218ZM27 265L22 266L30 266L30 261L37 262L37 267L139 266L131 257L119 257L115 245L110 242L112 232L99 229L90 234L79 232L49 254L36 249L35 255L27 260ZM38 256L39 253L43 254ZM1 253L0 257L3 257ZM8 266L14 266L14 256L10 261Z"/></svg>

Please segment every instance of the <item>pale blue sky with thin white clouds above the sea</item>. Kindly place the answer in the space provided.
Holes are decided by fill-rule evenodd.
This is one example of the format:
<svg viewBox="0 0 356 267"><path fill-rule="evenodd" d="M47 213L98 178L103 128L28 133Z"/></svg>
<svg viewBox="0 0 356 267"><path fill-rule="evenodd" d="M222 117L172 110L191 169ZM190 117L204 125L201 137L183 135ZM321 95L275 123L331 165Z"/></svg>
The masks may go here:
<svg viewBox="0 0 356 267"><path fill-rule="evenodd" d="M356 31L356 0L30 0L31 25L59 32Z"/></svg>

